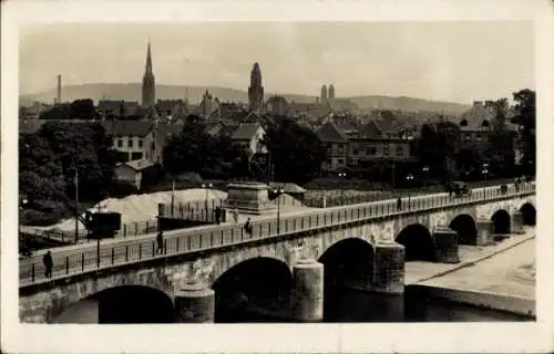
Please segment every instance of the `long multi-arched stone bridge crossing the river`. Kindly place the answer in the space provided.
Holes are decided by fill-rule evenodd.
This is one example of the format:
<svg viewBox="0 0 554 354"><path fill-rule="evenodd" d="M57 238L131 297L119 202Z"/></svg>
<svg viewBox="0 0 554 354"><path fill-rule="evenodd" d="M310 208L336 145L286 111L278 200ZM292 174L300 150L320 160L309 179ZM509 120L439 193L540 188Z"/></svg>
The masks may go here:
<svg viewBox="0 0 554 354"><path fill-rule="evenodd" d="M483 190L469 198L413 199L401 210L388 200L304 212L280 220L283 232L275 232L275 220L255 222L252 235L240 229L240 237L235 229L211 231L209 247L202 247L206 228L194 233L199 233L196 241L192 235L170 235L165 254L154 254L148 241L138 252L151 247L146 252L152 257L133 260L131 246L136 244L126 244L121 263L114 259L123 257L122 246L114 246L112 263L91 270L83 251L82 271L73 271L66 258L61 275L20 284L20 319L225 322L229 312L247 311L284 321L320 321L329 287L401 294L404 261L458 262L459 243L486 246L494 235L520 232L536 218L530 185L506 195ZM179 240L188 243L182 251ZM38 268L33 263L33 277Z"/></svg>

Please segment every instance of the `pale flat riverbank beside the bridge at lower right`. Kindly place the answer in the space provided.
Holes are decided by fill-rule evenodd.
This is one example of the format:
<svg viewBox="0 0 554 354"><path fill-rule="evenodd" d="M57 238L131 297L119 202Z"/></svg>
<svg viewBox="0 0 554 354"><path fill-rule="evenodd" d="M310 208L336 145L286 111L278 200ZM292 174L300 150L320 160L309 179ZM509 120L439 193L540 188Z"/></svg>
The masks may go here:
<svg viewBox="0 0 554 354"><path fill-rule="evenodd" d="M490 250L411 283L430 298L534 317L534 230L513 236Z"/></svg>

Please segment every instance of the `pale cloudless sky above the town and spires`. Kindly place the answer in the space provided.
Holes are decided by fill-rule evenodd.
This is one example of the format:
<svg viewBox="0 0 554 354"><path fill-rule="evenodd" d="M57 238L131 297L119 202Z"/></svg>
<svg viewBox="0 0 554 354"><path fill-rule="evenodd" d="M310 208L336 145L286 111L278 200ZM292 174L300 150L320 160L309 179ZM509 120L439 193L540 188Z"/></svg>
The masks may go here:
<svg viewBox="0 0 554 354"><path fill-rule="evenodd" d="M156 84L391 95L471 103L534 88L533 23L196 22L49 24L20 33L20 93L141 82L152 43Z"/></svg>

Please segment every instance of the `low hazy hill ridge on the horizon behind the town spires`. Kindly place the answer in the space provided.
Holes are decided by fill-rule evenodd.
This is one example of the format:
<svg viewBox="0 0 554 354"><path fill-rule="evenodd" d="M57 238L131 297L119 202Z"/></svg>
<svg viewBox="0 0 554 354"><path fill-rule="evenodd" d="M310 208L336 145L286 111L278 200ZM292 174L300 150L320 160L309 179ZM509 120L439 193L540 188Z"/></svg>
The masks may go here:
<svg viewBox="0 0 554 354"><path fill-rule="evenodd" d="M71 102L78 98L92 98L98 103L102 98L106 100L125 100L138 101L141 97L142 85L140 83L101 83L101 84L84 84L74 86L62 87L62 100ZM220 102L248 102L248 93L243 90L227 88L227 87L212 87L212 86L181 86L181 85L156 85L156 96L164 100L178 100L188 97L191 103L199 103L204 92L208 90L209 93L217 97ZM30 105L35 101L52 102L55 97L55 88L20 96L21 105ZM266 97L273 95L266 93ZM316 95L301 95L301 94L281 94L288 102L298 103L314 103ZM466 104L431 101L422 98L413 98L407 96L378 96L378 95L363 95L349 98L356 103L360 110L371 110L379 107L381 110L402 110L402 111L429 111L429 112L444 112L444 113L463 113L471 106Z"/></svg>

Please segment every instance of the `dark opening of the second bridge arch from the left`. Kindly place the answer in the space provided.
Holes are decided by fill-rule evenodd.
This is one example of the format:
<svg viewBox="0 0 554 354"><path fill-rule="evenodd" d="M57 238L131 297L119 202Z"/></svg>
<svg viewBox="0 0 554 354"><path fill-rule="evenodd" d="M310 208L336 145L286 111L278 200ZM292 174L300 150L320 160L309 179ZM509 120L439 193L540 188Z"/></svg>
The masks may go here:
<svg viewBox="0 0 554 354"><path fill-rule="evenodd" d="M281 322L293 277L288 266L273 258L243 261L223 273L215 291L215 322Z"/></svg>

